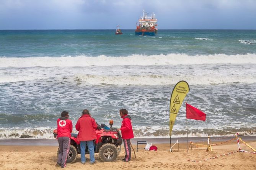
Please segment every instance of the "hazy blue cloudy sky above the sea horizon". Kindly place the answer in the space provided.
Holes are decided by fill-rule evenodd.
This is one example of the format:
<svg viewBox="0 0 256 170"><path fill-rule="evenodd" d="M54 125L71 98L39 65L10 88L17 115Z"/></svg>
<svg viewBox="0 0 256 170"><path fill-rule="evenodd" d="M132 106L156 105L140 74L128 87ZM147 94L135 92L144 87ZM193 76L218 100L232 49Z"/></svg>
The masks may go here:
<svg viewBox="0 0 256 170"><path fill-rule="evenodd" d="M0 29L256 29L256 0L0 0Z"/></svg>

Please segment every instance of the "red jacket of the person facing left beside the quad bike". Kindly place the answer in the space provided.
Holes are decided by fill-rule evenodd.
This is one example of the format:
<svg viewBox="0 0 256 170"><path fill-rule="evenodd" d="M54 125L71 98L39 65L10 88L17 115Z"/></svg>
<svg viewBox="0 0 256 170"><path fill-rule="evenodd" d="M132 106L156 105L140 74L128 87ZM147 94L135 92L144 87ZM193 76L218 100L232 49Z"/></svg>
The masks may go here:
<svg viewBox="0 0 256 170"><path fill-rule="evenodd" d="M134 138L133 131L132 131L132 119L129 115L124 115L121 125L121 132L122 132L122 138L123 139L131 139Z"/></svg>

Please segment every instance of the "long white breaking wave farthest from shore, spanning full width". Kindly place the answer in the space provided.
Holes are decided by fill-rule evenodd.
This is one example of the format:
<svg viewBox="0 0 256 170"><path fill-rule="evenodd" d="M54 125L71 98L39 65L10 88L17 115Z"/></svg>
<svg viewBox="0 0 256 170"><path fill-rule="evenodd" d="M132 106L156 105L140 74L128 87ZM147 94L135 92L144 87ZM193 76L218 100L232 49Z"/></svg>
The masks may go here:
<svg viewBox="0 0 256 170"><path fill-rule="evenodd" d="M256 54L246 55L130 55L127 57L111 56L62 56L62 57L30 57L0 58L0 67L84 67L84 66L126 66L126 65L180 65L180 64L256 64Z"/></svg>

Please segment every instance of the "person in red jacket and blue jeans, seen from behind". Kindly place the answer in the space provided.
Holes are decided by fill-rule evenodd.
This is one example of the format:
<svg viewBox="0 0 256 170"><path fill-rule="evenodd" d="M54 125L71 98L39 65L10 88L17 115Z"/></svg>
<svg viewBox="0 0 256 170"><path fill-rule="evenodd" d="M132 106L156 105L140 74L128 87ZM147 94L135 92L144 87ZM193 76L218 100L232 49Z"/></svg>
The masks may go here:
<svg viewBox="0 0 256 170"><path fill-rule="evenodd" d="M94 158L94 145L93 140L96 139L96 132L98 125L95 120L91 117L90 112L85 109L82 112L82 116L77 120L75 128L79 132L77 135L77 140L80 141L81 149L81 163L85 164L85 148L86 144L88 146L88 151L90 153L90 162L95 164Z"/></svg>

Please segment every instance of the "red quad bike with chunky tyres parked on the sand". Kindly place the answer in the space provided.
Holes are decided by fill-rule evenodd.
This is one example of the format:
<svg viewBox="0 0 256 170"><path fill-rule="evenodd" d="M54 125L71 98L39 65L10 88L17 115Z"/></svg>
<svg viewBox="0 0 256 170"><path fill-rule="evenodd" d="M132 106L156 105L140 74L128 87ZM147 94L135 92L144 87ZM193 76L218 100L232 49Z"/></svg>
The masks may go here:
<svg viewBox="0 0 256 170"><path fill-rule="evenodd" d="M101 128L95 130L96 140L94 141L94 152L99 153L99 159L102 162L115 161L119 151L118 146L122 144L122 138L116 128L112 128L113 120L109 121L110 130ZM57 130L55 129L54 137L57 138ZM80 154L80 142L77 140L77 134L71 133L70 148L67 156L67 163L73 163L77 159L77 155ZM85 154L89 154L88 147L86 146ZM59 156L59 148L57 151Z"/></svg>

